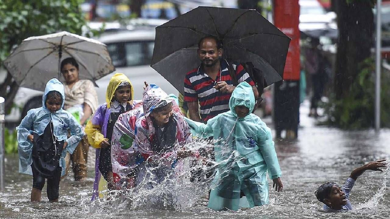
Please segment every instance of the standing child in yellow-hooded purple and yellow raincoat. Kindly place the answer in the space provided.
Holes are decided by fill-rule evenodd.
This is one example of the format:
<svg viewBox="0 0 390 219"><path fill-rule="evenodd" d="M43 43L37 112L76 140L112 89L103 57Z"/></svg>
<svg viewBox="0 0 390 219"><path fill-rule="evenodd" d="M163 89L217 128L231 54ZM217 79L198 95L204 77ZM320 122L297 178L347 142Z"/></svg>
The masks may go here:
<svg viewBox="0 0 390 219"><path fill-rule="evenodd" d="M111 137L119 115L133 108L133 85L126 75L117 73L110 79L106 102L96 109L85 127L88 141L96 148L95 182L92 200L98 194L100 174L107 181L108 189L114 189L111 166Z"/></svg>

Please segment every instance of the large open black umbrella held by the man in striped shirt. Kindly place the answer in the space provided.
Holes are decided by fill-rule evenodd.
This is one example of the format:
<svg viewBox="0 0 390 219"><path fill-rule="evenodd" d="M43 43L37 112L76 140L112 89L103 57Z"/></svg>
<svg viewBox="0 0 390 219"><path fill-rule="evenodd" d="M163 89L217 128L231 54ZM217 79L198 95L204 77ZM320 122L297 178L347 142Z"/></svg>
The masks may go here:
<svg viewBox="0 0 390 219"><path fill-rule="evenodd" d="M223 58L252 62L268 85L282 79L290 38L249 9L197 7L156 27L151 67L184 94L186 72L200 65L198 42L208 35L222 40Z"/></svg>

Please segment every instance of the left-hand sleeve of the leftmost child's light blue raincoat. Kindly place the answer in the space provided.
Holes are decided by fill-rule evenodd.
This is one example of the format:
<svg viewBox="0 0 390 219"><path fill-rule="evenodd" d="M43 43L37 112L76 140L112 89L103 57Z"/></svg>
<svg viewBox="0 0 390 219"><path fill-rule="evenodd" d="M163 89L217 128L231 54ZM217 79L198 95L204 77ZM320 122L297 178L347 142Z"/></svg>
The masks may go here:
<svg viewBox="0 0 390 219"><path fill-rule="evenodd" d="M18 130L17 132L17 138L18 138L18 152L19 152L19 159L22 164L22 166L29 166L31 165L30 162L32 160L32 142L28 140L27 136L32 133L32 125L33 125L33 110L30 109L27 112L27 115L22 119L20 125L16 127ZM26 171L26 170L23 170Z"/></svg>

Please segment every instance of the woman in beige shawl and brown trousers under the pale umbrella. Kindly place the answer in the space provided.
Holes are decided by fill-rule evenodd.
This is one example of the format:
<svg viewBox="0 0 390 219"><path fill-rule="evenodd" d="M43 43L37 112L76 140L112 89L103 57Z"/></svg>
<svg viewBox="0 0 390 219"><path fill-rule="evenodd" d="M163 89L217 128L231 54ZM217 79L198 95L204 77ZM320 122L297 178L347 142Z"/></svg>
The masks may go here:
<svg viewBox="0 0 390 219"><path fill-rule="evenodd" d="M92 81L80 80L78 71L79 65L74 58L62 60L61 72L65 78L64 109L72 113L80 125L85 125L97 108L97 94ZM70 155L75 181L82 181L87 176L88 149L87 136L84 136ZM68 159L67 166L69 162Z"/></svg>

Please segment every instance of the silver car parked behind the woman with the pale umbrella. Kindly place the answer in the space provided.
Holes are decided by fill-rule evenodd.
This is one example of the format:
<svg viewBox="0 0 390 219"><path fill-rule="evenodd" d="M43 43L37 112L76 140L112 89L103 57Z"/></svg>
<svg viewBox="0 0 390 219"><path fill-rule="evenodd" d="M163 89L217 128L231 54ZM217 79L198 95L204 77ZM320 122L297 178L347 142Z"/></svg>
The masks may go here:
<svg viewBox="0 0 390 219"><path fill-rule="evenodd" d="M97 40L107 45L116 71L98 79L96 88L99 104L105 102L105 93L110 78L116 73L126 74L133 83L134 98L142 99L144 81L155 83L168 94L178 95L178 91L158 72L150 67L154 48L154 28L142 30L119 30L107 32ZM185 72L183 72L185 74ZM29 109L42 106L43 92L21 87L16 94L14 108L6 115L7 122L18 123Z"/></svg>

